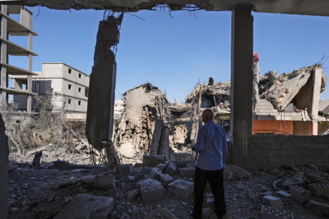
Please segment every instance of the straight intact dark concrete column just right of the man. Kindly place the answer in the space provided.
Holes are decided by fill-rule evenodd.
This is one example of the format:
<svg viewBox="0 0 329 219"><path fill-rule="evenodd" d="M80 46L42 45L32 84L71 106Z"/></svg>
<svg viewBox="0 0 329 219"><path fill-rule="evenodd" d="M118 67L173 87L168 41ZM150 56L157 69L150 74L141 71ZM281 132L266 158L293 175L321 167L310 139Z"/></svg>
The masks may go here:
<svg viewBox="0 0 329 219"><path fill-rule="evenodd" d="M253 21L250 6L232 10L231 139L232 163L244 167L252 135ZM250 155L248 158L252 158Z"/></svg>

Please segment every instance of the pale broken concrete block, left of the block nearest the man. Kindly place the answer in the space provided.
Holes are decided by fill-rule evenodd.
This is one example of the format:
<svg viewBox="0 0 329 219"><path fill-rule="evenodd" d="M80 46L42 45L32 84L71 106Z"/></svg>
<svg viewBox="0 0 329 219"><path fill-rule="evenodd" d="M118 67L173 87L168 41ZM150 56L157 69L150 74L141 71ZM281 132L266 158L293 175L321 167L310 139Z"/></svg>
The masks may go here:
<svg viewBox="0 0 329 219"><path fill-rule="evenodd" d="M153 179L141 180L137 183L141 190L142 200L145 202L155 201L163 198L163 186L159 181Z"/></svg>

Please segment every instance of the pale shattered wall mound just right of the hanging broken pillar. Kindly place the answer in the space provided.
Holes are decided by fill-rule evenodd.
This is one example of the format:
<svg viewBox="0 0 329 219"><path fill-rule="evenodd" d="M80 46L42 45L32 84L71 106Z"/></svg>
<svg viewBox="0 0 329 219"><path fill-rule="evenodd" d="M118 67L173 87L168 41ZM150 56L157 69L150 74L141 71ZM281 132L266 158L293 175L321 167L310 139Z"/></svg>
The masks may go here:
<svg viewBox="0 0 329 219"><path fill-rule="evenodd" d="M150 83L135 87L124 96L126 106L113 143L123 163L141 162L143 155L150 152L156 121L168 121L168 100Z"/></svg>

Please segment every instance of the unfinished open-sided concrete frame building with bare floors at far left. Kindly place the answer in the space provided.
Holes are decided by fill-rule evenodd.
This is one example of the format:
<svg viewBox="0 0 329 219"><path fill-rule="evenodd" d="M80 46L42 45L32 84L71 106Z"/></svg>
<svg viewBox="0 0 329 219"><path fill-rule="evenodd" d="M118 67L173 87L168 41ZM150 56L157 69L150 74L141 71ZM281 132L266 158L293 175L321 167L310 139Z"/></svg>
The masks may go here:
<svg viewBox="0 0 329 219"><path fill-rule="evenodd" d="M22 110L31 112L32 96L32 56L37 56L32 52L32 36L38 34L32 30L32 12L22 6L0 5L0 92L1 102L9 101L9 95L13 95L14 99L22 99ZM13 14L20 15L20 22L10 17ZM28 48L23 48L10 40L12 36L27 36ZM27 56L27 70L9 64L9 55L11 56ZM13 86L9 87L9 78L13 79Z"/></svg>

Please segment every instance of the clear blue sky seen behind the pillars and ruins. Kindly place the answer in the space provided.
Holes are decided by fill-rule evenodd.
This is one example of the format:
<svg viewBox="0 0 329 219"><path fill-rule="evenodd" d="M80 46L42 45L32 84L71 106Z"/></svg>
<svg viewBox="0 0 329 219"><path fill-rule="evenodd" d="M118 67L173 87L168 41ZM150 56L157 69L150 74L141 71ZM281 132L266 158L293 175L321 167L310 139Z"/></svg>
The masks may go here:
<svg viewBox="0 0 329 219"><path fill-rule="evenodd" d="M42 62L65 62L91 73L99 21L104 11L59 11L43 7L33 12L33 71ZM38 14L38 16L37 16ZM195 83L230 80L231 12L140 11L126 14L117 47L116 99L145 82L167 93L169 101L185 101ZM36 17L37 16L37 17ZM329 17L255 13L254 51L259 54L261 74L279 74L313 65L329 55ZM17 18L15 16L12 16ZM196 19L195 19L196 18ZM27 47L27 37L10 36ZM9 63L27 68L26 57L9 57ZM323 65L328 77L329 60ZM328 77L329 79L329 77ZM321 100L329 99L329 90Z"/></svg>

